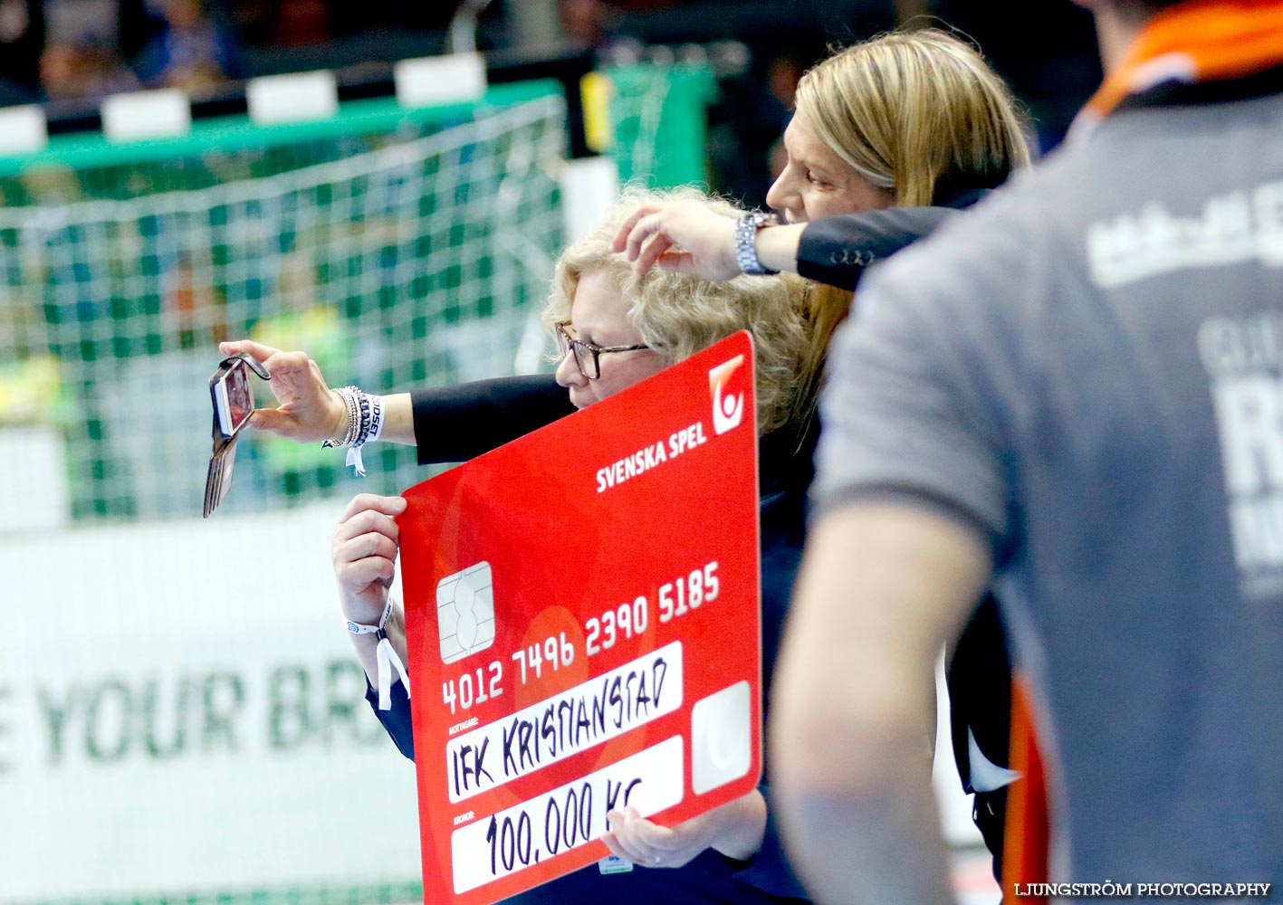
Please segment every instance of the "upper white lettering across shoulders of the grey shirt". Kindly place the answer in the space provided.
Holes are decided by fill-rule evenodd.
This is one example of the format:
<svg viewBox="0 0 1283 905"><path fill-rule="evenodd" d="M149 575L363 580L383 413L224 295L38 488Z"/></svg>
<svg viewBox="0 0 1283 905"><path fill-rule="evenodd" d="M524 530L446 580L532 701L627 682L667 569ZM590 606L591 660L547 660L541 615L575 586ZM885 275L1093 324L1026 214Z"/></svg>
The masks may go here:
<svg viewBox="0 0 1283 905"><path fill-rule="evenodd" d="M1146 277L1260 260L1283 267L1283 181L1216 195L1202 214L1178 217L1152 201L1087 229L1092 281L1125 286Z"/></svg>

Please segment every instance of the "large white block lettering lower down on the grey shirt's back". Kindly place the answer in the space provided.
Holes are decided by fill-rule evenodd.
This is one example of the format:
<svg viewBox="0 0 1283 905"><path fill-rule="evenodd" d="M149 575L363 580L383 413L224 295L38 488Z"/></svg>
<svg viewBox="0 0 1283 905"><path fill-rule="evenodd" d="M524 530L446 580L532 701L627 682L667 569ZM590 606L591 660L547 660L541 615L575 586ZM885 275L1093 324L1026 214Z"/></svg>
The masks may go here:
<svg viewBox="0 0 1283 905"><path fill-rule="evenodd" d="M1229 529L1241 576L1283 573L1283 314L1210 318L1198 354L1211 377Z"/></svg>

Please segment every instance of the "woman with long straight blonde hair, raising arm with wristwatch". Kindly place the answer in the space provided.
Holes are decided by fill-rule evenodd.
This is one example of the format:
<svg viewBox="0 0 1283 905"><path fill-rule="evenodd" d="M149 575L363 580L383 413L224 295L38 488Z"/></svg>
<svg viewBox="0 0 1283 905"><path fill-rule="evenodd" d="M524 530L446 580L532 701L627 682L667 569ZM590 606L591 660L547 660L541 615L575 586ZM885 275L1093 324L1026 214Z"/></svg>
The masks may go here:
<svg viewBox="0 0 1283 905"><path fill-rule="evenodd" d="M806 299L811 345L790 418L815 442L815 400L833 331L865 268L980 200L1030 162L1011 94L967 42L901 31L847 47L798 83L788 163L767 192L784 226L733 222L684 204L639 209L616 236L639 270L729 278L793 270L824 285ZM856 301L858 310L858 300ZM1011 664L992 596L951 651L953 749L1001 873Z"/></svg>

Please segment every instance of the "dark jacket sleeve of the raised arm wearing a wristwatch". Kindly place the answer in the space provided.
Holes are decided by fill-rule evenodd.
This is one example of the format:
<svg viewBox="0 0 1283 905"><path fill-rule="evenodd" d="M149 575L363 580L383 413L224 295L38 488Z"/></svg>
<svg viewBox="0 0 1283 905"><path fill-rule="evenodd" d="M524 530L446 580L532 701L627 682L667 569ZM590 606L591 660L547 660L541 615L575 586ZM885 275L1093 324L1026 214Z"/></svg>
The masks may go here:
<svg viewBox="0 0 1283 905"><path fill-rule="evenodd" d="M866 267L930 235L955 213L953 208L889 208L813 220L798 242L798 273L853 290Z"/></svg>

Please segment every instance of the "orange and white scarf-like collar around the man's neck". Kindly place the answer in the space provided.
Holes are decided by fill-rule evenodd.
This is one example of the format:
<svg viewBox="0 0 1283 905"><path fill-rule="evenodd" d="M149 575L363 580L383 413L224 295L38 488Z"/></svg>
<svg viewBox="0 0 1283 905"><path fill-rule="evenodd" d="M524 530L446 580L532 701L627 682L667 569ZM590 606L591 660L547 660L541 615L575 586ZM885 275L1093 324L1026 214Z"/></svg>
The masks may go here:
<svg viewBox="0 0 1283 905"><path fill-rule="evenodd" d="M1162 82L1243 78L1283 64L1283 0L1191 0L1150 19L1083 108L1098 122Z"/></svg>

